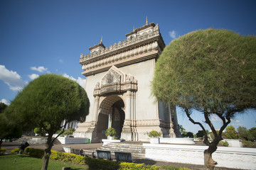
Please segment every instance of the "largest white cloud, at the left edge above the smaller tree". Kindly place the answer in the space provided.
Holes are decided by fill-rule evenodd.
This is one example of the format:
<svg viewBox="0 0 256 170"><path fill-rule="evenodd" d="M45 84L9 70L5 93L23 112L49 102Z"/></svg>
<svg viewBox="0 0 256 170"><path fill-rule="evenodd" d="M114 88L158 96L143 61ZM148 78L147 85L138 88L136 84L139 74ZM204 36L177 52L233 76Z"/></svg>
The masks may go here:
<svg viewBox="0 0 256 170"><path fill-rule="evenodd" d="M21 76L14 71L6 69L4 65L0 65L0 79L9 86L12 91L19 91L26 85Z"/></svg>

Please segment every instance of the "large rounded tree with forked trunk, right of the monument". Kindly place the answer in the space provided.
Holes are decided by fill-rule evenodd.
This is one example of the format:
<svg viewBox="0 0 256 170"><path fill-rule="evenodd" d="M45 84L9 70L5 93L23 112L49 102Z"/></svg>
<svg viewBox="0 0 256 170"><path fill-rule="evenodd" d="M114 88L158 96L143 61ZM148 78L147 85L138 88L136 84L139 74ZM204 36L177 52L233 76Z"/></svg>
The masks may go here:
<svg viewBox="0 0 256 170"><path fill-rule="evenodd" d="M256 38L230 30L197 30L173 40L156 62L153 94L161 101L183 108L188 119L200 125L207 169L214 169L212 154L223 140L223 130L235 113L256 107ZM212 130L212 142L201 122L193 120L200 111ZM216 132L209 116L223 125Z"/></svg>

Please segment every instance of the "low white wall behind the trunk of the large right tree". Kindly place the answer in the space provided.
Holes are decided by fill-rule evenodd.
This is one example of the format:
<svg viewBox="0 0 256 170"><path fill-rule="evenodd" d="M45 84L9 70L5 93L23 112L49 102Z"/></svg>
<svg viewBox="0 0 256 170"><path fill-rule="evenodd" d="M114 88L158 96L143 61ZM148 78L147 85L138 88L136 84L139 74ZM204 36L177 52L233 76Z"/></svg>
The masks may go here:
<svg viewBox="0 0 256 170"><path fill-rule="evenodd" d="M143 144L145 158L164 162L203 165L203 151L207 146ZM256 149L242 147L218 147L213 153L218 167L231 169L256 169Z"/></svg>

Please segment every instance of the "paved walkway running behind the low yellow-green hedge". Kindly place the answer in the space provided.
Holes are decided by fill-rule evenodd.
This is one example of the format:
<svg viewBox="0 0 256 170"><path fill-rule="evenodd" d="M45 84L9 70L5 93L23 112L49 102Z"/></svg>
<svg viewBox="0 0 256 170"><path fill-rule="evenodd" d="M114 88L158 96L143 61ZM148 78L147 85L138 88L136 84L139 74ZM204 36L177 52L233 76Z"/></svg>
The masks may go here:
<svg viewBox="0 0 256 170"><path fill-rule="evenodd" d="M19 142L3 142L1 148L6 149L7 153L11 153L12 149L15 149L20 145ZM88 150L95 150L102 146L102 143L92 143L92 144L72 144L72 145L63 145L63 144L55 144L53 145L52 150L55 151L62 151L63 146L68 146L73 149L88 149ZM38 144L31 144L29 147L37 148L37 149L44 149L45 145L38 145ZM195 169L195 170L203 170L205 169L202 165L195 165L195 164L180 164L176 162L159 162L153 160L146 160L146 159L134 159L135 163L144 163L144 164L151 164L156 166L178 166L183 168ZM215 168L216 170L231 170L226 168ZM238 169L236 169L238 170Z"/></svg>

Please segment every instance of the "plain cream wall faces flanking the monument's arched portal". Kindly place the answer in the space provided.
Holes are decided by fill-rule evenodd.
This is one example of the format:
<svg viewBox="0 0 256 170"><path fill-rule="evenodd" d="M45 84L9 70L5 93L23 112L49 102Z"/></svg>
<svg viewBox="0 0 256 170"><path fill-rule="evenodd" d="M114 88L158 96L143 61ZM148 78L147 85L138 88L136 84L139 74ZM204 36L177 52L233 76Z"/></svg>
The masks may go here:
<svg viewBox="0 0 256 170"><path fill-rule="evenodd" d="M124 74L132 74L138 81L138 91L136 92L136 119L157 119L157 102L154 96L151 96L151 81L154 77L155 60L147 60L136 64L120 67ZM107 72L95 74L87 77L85 91L90 100L90 113L86 117L86 122L93 120L93 108L95 98L93 91L95 85L100 81Z"/></svg>

